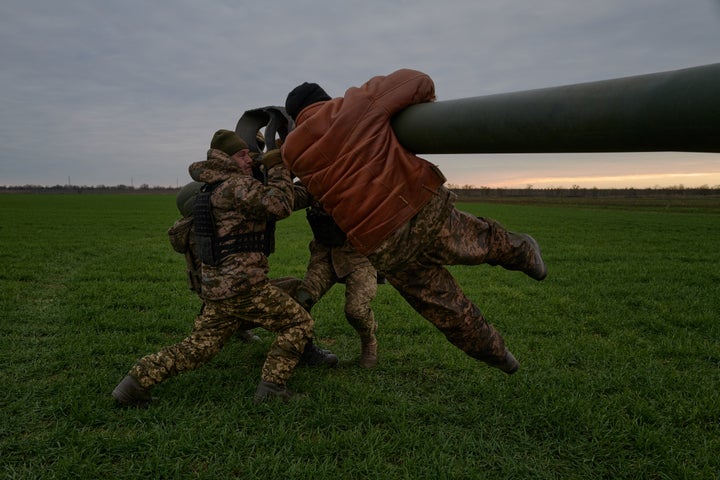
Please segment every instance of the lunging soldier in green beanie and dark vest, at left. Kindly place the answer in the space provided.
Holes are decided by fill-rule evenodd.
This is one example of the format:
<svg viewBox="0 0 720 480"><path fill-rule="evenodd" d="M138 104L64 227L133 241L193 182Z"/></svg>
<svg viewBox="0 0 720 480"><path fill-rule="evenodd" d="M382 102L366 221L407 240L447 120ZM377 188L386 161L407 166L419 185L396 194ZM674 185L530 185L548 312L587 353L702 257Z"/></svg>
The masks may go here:
<svg viewBox="0 0 720 480"><path fill-rule="evenodd" d="M312 336L313 320L267 278L271 227L292 212L293 186L278 150L261 162L267 185L253 177L245 142L234 132L218 130L207 160L190 165L190 176L207 184L193 212L205 305L187 338L132 367L112 393L120 405L147 407L150 387L207 363L230 336L252 327L276 334L254 401L293 396L286 382Z"/></svg>

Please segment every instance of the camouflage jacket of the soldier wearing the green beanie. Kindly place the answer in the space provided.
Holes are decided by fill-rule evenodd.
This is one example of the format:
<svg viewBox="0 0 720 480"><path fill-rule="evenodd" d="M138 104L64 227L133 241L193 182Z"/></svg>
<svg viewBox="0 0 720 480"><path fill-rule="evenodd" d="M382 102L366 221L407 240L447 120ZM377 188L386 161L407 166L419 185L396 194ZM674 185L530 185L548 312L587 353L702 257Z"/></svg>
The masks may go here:
<svg viewBox="0 0 720 480"><path fill-rule="evenodd" d="M292 213L292 180L282 164L270 169L267 185L241 173L228 155L215 149L208 150L207 160L193 163L188 170L198 182L222 182L210 200L219 237L264 232L269 220ZM268 260L262 252L231 254L216 266L202 265L202 296L209 300L233 297L267 281L267 274Z"/></svg>

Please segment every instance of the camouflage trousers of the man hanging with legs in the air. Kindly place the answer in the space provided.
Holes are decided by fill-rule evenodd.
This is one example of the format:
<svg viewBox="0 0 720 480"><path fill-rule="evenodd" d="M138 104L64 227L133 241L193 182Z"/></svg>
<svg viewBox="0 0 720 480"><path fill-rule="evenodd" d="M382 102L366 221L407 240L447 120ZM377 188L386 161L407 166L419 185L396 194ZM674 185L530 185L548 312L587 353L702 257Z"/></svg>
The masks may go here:
<svg viewBox="0 0 720 480"><path fill-rule="evenodd" d="M522 237L494 220L454 207L441 188L415 217L368 256L378 271L456 347L490 364L505 357L505 342L444 265L501 265L522 270L531 260Z"/></svg>

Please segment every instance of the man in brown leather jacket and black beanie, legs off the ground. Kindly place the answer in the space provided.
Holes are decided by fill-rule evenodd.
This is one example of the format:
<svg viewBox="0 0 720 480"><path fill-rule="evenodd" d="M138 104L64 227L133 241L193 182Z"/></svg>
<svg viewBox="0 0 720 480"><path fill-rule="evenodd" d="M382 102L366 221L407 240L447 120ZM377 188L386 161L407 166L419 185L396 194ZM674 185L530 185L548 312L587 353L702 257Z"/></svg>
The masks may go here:
<svg viewBox="0 0 720 480"><path fill-rule="evenodd" d="M407 69L335 99L305 82L285 102L296 126L283 160L418 313L469 356L512 374L520 364L444 265L501 265L535 280L547 268L531 236L457 210L439 169L399 143L393 115L434 100L432 79Z"/></svg>

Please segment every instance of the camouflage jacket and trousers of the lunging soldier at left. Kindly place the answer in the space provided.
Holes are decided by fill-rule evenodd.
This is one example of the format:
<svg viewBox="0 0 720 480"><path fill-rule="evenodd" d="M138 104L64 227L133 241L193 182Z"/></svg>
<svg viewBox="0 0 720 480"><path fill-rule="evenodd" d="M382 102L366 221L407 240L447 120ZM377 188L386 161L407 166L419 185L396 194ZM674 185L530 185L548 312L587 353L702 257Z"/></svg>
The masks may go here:
<svg viewBox="0 0 720 480"><path fill-rule="evenodd" d="M232 159L210 149L207 161L190 166L194 180L213 184L211 203L220 238L262 234L269 220L292 211L293 187L282 166L271 168L267 185L237 171ZM181 233L179 235L182 235ZM265 253L231 253L217 265L201 269L204 308L190 335L181 342L141 358L129 376L144 388L209 361L234 333L262 327L277 334L262 367L262 380L284 385L300 360L313 331L312 317L267 278Z"/></svg>

